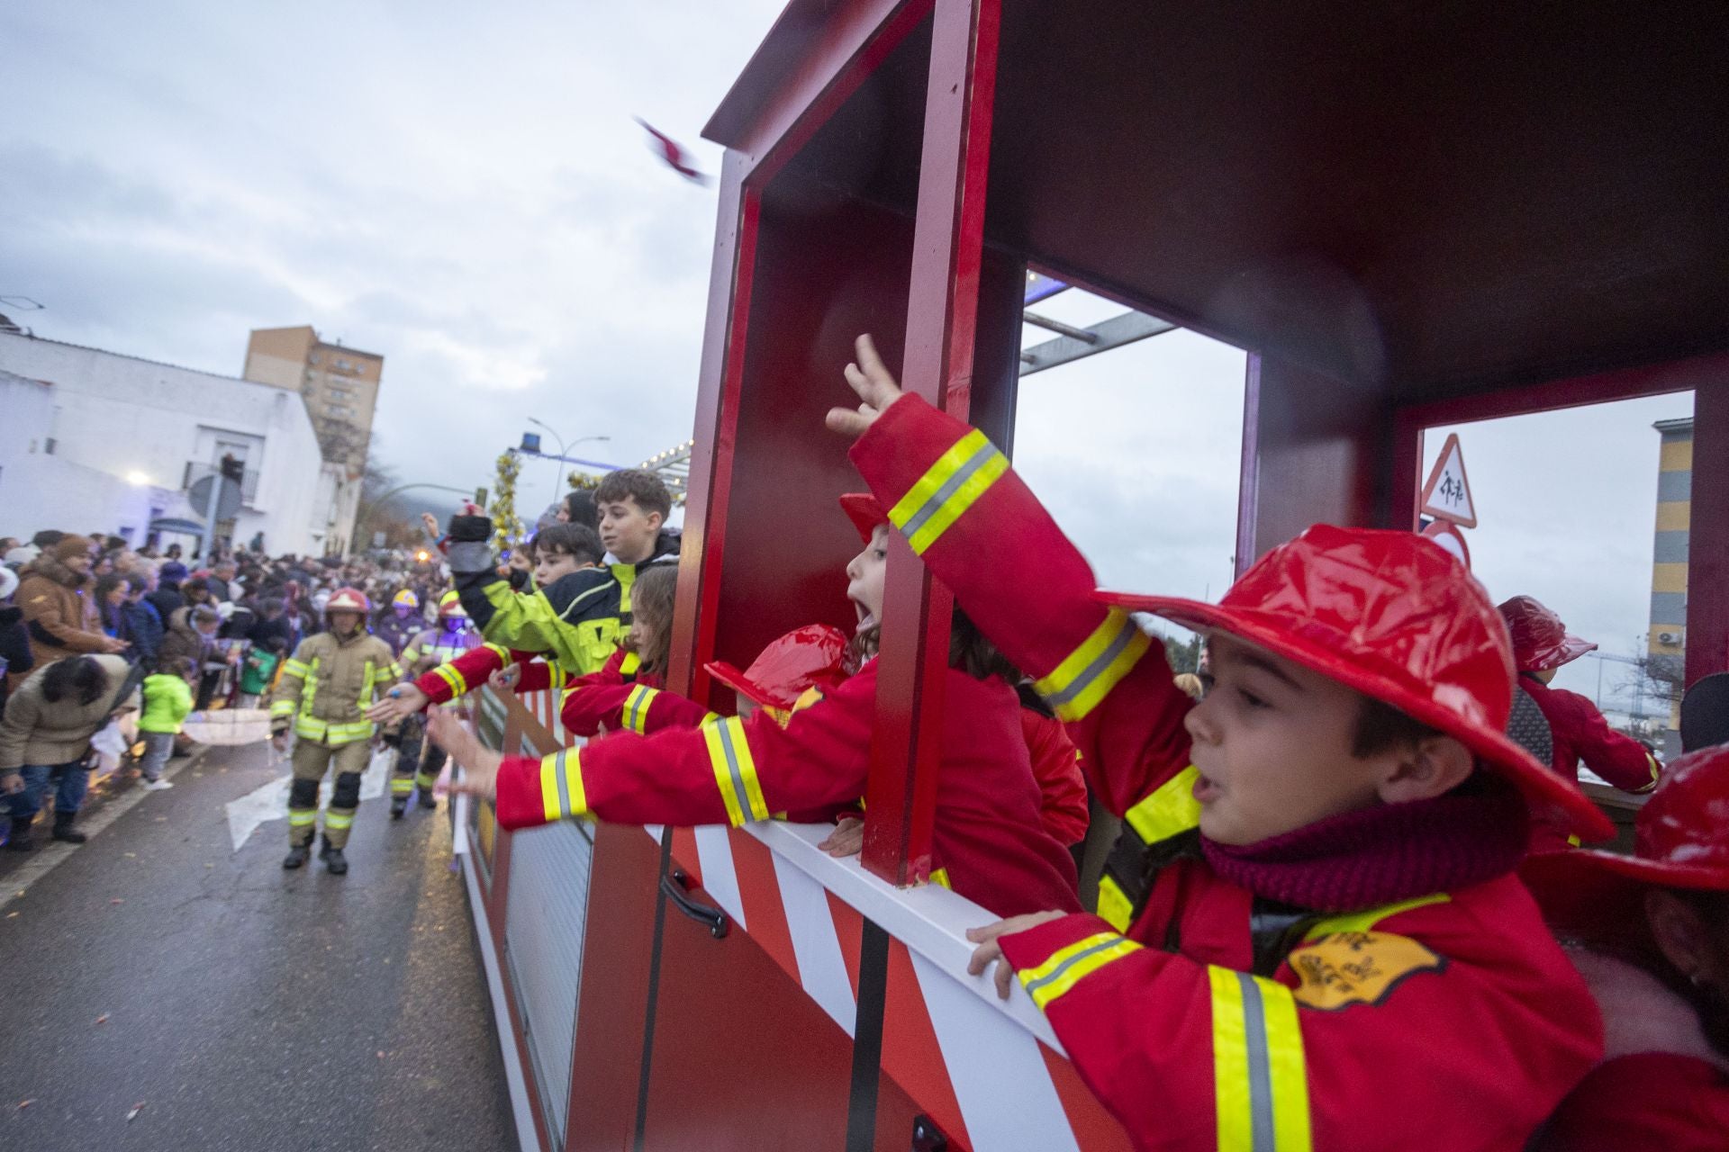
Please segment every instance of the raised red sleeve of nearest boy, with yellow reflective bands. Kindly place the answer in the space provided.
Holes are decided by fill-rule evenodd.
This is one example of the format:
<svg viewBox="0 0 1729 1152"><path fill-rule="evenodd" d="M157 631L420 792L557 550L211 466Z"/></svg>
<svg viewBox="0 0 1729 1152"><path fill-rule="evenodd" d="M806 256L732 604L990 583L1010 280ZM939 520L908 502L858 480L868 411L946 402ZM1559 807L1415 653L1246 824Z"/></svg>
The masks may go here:
<svg viewBox="0 0 1729 1152"><path fill-rule="evenodd" d="M1112 812L1188 767L1190 698L1164 646L1091 598L1093 568L984 434L908 394L852 463L967 615L1037 677Z"/></svg>

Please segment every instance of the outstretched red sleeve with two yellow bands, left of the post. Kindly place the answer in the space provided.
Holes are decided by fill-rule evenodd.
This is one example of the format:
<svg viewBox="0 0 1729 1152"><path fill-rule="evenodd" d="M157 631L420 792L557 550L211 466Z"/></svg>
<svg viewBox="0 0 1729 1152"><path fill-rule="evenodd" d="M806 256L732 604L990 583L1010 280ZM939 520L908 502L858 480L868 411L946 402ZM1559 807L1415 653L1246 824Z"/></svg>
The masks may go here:
<svg viewBox="0 0 1729 1152"><path fill-rule="evenodd" d="M507 756L507 829L593 815L616 824L731 824L864 791L877 680L856 675L780 727L766 710L655 736L617 732L545 760Z"/></svg>

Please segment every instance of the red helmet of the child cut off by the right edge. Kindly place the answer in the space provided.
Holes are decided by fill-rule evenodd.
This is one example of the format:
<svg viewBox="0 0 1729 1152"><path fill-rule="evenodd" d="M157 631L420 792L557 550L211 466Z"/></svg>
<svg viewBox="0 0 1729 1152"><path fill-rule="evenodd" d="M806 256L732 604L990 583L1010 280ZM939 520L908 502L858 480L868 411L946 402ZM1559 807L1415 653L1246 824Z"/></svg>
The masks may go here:
<svg viewBox="0 0 1729 1152"><path fill-rule="evenodd" d="M1630 857L1553 851L1520 865L1556 931L1639 952L1651 946L1643 908L1649 888L1729 891L1729 744L1668 765L1632 827Z"/></svg>

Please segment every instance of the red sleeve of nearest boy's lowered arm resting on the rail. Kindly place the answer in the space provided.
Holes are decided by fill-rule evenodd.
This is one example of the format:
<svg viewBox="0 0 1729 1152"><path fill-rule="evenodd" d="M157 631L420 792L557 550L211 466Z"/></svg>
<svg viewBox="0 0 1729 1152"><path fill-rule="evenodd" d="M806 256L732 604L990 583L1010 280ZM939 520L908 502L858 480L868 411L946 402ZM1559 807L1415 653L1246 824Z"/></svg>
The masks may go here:
<svg viewBox="0 0 1729 1152"><path fill-rule="evenodd" d="M1463 957L1421 934L1326 934L1273 978L1141 946L1094 915L1001 945L1136 1147L1428 1149L1445 1133L1522 1149L1599 1059L1601 1024L1580 981L1542 960L1509 974L1471 927L1489 950Z"/></svg>

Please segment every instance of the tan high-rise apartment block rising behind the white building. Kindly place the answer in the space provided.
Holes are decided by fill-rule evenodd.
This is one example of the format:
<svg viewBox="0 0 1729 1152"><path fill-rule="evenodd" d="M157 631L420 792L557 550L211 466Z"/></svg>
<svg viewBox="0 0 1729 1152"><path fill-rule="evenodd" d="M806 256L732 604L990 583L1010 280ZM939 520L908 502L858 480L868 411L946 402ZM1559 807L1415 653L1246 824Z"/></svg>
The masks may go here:
<svg viewBox="0 0 1729 1152"><path fill-rule="evenodd" d="M325 459L346 463L356 477L367 470L382 356L320 340L311 325L254 328L240 375L306 397Z"/></svg>

